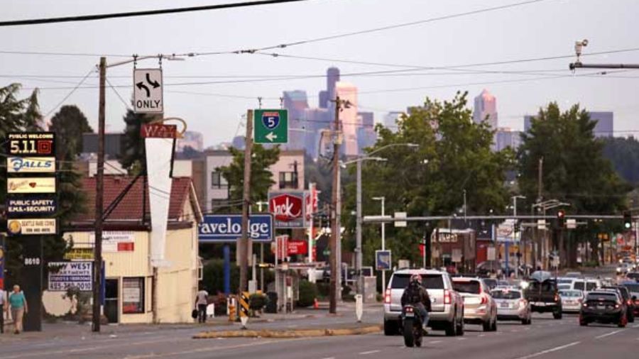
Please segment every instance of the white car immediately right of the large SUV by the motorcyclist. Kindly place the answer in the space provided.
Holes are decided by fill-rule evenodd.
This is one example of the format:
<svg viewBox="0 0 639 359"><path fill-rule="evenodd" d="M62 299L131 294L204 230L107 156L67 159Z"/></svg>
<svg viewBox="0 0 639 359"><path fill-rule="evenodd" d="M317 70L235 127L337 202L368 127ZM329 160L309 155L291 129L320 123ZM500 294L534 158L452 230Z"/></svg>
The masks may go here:
<svg viewBox="0 0 639 359"><path fill-rule="evenodd" d="M455 277L453 289L464 298L464 323L480 324L484 331L497 330L497 303L483 280Z"/></svg>

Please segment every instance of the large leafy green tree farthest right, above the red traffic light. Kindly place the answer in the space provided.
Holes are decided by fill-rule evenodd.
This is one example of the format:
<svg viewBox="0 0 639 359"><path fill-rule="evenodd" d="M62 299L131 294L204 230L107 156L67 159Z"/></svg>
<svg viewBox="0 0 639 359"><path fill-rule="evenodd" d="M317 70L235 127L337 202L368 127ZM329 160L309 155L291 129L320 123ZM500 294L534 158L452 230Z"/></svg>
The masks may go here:
<svg viewBox="0 0 639 359"><path fill-rule="evenodd" d="M603 157L603 141L594 137L595 125L578 105L562 112L551 102L540 109L532 119L530 131L522 135L518 152L519 187L529 201L537 199L537 173L542 158L542 199L566 201L571 204L566 210L579 214L615 213L626 207L630 187ZM598 248L596 231L600 227L590 223L587 228L563 235L555 233L555 248L559 249L562 263L576 263L577 241L590 240L591 247ZM566 241L564 235L569 237Z"/></svg>

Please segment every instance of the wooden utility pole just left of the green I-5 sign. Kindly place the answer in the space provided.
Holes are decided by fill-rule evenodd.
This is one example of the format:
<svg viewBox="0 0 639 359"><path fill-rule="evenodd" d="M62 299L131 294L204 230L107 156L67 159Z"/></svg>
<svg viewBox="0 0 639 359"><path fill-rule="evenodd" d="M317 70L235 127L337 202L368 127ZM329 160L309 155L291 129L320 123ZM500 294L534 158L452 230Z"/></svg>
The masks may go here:
<svg viewBox="0 0 639 359"><path fill-rule="evenodd" d="M249 206L251 206L251 150L253 148L253 110L246 114L246 138L244 140L244 191L242 193L242 235L237 245L239 253L240 285L239 292L249 289Z"/></svg>

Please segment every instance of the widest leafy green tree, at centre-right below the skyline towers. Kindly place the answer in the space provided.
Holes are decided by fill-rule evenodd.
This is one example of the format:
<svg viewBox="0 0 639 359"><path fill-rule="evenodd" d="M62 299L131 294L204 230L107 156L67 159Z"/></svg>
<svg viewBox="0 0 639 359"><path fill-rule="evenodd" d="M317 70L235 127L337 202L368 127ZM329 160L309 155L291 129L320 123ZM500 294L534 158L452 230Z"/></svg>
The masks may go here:
<svg viewBox="0 0 639 359"><path fill-rule="evenodd" d="M386 214L407 211L409 216L449 216L464 203L467 213L503 212L508 191L503 183L513 167L511 150L491 151L493 132L486 123L474 123L467 107L467 94L458 92L451 101L426 99L398 121L397 131L378 126L378 141L368 153L386 162L365 161L362 171L364 215L380 214L373 196L386 197ZM415 143L418 148L391 146ZM351 169L353 170L353 169ZM354 237L355 185L346 185L344 219L349 238ZM386 247L394 260L406 258L420 263L418 245L430 238L435 225L409 223L406 228L386 226ZM443 224L443 223L442 223ZM363 250L366 263L373 263L380 248L380 226L364 226Z"/></svg>

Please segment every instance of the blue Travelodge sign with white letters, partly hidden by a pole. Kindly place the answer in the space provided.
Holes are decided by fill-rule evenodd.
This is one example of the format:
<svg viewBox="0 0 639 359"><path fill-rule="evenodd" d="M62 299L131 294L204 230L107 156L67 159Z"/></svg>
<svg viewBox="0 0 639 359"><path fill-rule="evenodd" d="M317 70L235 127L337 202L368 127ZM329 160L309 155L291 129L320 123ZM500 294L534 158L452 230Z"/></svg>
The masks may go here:
<svg viewBox="0 0 639 359"><path fill-rule="evenodd" d="M242 235L241 214L206 214L198 224L197 237L200 243L235 243ZM251 214L249 237L253 242L273 240L273 216Z"/></svg>

